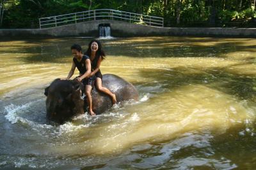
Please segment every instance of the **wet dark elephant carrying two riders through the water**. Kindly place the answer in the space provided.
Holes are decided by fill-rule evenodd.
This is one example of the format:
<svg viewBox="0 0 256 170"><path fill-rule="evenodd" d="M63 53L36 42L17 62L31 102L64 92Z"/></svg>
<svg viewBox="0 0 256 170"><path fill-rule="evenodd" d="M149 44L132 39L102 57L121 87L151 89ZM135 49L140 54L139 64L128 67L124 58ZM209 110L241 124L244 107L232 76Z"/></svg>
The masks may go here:
<svg viewBox="0 0 256 170"><path fill-rule="evenodd" d="M117 75L104 74L102 86L115 93L117 102L138 100L137 89ZM50 86L45 88L47 119L63 124L78 114L84 114L87 109L87 102L83 100L83 92L83 84L75 79L55 79ZM100 93L96 88L92 90L92 102L93 111L96 114L102 114L112 107L111 98Z"/></svg>

